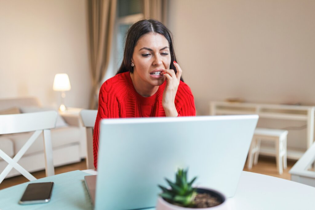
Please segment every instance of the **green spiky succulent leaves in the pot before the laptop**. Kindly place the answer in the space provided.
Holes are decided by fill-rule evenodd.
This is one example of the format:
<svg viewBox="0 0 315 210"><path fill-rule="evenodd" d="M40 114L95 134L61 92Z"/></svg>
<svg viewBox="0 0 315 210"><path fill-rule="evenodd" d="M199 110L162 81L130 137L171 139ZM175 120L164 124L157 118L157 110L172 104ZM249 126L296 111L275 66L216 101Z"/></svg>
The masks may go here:
<svg viewBox="0 0 315 210"><path fill-rule="evenodd" d="M166 187L158 185L159 188L161 188L163 191L160 196L172 204L177 204L183 207L192 206L194 198L197 195L197 188L193 188L192 184L197 179L197 177L194 177L190 182L188 182L187 171L188 169L178 169L175 175L175 183L165 178L170 188L168 189Z"/></svg>

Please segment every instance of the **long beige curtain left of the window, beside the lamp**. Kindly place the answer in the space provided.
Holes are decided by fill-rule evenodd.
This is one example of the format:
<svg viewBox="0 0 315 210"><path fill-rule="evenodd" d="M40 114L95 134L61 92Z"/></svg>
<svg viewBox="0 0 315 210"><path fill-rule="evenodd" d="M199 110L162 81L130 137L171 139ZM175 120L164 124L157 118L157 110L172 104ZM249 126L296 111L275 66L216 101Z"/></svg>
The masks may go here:
<svg viewBox="0 0 315 210"><path fill-rule="evenodd" d="M90 109L97 109L98 94L106 73L112 47L116 0L88 0L88 25L92 91Z"/></svg>

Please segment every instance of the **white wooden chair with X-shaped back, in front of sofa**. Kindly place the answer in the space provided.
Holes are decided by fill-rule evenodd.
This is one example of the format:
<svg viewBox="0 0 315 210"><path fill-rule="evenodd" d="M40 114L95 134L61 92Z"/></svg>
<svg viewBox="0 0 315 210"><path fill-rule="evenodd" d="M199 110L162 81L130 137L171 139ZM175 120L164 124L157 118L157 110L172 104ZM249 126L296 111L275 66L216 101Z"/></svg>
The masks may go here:
<svg viewBox="0 0 315 210"><path fill-rule="evenodd" d="M0 183L8 175L8 173L15 168L23 176L30 181L36 180L25 168L23 168L18 161L30 148L34 141L40 134L43 133L44 139L44 154L45 154L45 169L46 176L54 175L53 164L53 150L51 143L50 129L55 128L57 119L56 111L43 111L25 114L0 115L0 134L33 132L32 136L22 146L20 151L16 153L14 158L8 156L0 149L0 157L9 163L7 167L0 174Z"/></svg>

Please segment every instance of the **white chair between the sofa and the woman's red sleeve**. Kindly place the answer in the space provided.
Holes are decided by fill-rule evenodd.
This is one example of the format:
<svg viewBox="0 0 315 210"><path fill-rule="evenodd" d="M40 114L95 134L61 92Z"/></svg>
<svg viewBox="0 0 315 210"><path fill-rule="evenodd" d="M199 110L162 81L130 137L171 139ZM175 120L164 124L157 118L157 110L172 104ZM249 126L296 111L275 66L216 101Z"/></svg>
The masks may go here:
<svg viewBox="0 0 315 210"><path fill-rule="evenodd" d="M87 149L87 169L94 169L94 154L93 154L93 130L96 120L97 110L82 110L80 111L83 126L86 128L86 149Z"/></svg>

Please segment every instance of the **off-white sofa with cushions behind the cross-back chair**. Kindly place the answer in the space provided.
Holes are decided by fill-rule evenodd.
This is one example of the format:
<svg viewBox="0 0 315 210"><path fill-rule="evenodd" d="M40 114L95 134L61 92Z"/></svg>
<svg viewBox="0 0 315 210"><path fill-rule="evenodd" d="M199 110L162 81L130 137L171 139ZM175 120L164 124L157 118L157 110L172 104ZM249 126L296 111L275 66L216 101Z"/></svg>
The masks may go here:
<svg viewBox="0 0 315 210"><path fill-rule="evenodd" d="M37 98L0 99L0 114L17 114L17 112L46 111ZM32 133L0 135L0 149L10 157L20 150ZM64 116L57 119L56 128L51 130L54 166L80 162L86 157L86 131L78 116ZM29 172L45 168L43 137L40 136L20 159L19 164ZM0 158L0 173L7 162ZM6 178L20 175L15 169Z"/></svg>

